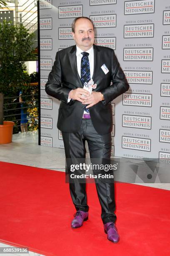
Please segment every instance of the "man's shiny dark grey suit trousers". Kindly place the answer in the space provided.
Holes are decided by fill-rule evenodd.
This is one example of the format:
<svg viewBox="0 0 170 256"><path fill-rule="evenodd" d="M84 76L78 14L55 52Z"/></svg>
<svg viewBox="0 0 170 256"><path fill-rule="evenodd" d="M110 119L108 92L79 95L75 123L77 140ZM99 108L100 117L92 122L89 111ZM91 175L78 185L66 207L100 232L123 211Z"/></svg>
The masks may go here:
<svg viewBox="0 0 170 256"><path fill-rule="evenodd" d="M65 157L67 162L66 172L69 175L69 187L72 202L76 210L87 212L89 207L87 205L86 183L85 179L80 182L80 179L72 179L70 181L70 159L77 161L77 159L85 159L85 141L88 143L90 160L97 159L102 164L102 159L110 161L111 156L111 133L100 135L95 130L91 119L82 119L80 130L77 133L62 132L62 138L65 146ZM67 161L69 159L69 161ZM71 160L71 161L72 161ZM85 170L81 170L85 173ZM95 172L93 170L93 174ZM102 208L101 218L103 224L108 222L115 223L115 187L114 181L107 182L101 179L97 182L95 179L97 195Z"/></svg>

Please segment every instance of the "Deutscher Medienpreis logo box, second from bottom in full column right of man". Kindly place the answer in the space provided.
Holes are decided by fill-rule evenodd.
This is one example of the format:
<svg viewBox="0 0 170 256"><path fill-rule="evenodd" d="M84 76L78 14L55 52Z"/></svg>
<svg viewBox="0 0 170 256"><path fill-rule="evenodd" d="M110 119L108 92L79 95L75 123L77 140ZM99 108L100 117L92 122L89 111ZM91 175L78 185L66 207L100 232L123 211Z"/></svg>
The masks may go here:
<svg viewBox="0 0 170 256"><path fill-rule="evenodd" d="M140 115L122 115L122 126L150 130L151 117Z"/></svg>

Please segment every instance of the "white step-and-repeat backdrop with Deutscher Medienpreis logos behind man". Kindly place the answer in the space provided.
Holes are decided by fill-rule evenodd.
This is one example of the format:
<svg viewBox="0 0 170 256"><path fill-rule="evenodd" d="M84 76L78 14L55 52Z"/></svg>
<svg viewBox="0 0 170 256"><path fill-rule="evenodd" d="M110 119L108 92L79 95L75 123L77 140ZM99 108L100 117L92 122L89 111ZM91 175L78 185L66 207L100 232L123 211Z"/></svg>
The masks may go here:
<svg viewBox="0 0 170 256"><path fill-rule="evenodd" d="M170 1L40 0L41 145L64 148L60 101L45 83L57 51L75 44L71 24L90 17L95 44L115 50L130 84L112 102L112 156L170 159Z"/></svg>

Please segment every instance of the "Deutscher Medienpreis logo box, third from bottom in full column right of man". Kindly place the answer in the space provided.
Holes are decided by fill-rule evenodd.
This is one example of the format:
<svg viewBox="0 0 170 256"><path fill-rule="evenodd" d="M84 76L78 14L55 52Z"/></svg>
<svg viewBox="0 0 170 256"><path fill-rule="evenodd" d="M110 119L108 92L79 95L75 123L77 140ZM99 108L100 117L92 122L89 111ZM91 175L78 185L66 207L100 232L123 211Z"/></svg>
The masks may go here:
<svg viewBox="0 0 170 256"><path fill-rule="evenodd" d="M152 107L152 94L123 93L123 105Z"/></svg>

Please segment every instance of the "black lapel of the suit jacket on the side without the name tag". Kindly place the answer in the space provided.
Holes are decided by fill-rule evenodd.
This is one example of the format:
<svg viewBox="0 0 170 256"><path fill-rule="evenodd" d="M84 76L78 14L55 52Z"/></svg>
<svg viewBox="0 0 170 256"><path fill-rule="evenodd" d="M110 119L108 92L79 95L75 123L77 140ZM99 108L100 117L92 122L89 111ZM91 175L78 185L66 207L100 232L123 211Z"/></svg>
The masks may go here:
<svg viewBox="0 0 170 256"><path fill-rule="evenodd" d="M69 53L69 60L70 60L72 72L75 75L76 85L77 85L77 87L83 88L81 79L80 79L78 71L77 71L77 57L76 57L76 46L75 45L72 47L72 50Z"/></svg>

